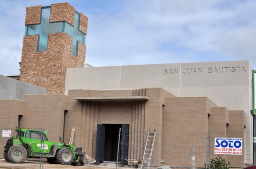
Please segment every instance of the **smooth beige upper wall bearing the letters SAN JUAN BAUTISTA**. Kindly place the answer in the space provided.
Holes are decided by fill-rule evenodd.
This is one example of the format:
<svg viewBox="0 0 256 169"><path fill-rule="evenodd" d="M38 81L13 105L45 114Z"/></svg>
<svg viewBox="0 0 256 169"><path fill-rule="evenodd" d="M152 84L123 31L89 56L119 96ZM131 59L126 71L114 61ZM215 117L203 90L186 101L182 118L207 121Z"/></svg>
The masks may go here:
<svg viewBox="0 0 256 169"><path fill-rule="evenodd" d="M206 96L218 106L244 110L249 118L250 81L249 61L91 67L67 69L65 94L70 89L159 87L175 96Z"/></svg>

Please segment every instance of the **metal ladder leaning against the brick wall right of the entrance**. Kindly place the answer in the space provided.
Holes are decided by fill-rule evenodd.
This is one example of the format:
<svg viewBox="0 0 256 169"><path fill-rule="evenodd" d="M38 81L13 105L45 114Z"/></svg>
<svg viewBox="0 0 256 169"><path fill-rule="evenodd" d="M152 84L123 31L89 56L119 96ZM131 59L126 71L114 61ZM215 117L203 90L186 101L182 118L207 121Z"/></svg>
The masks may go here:
<svg viewBox="0 0 256 169"><path fill-rule="evenodd" d="M148 137L145 145L145 150L144 150L144 155L142 159L142 164L141 164L141 169L142 168L147 168L149 169L150 162L151 162L151 156L154 148L154 143L155 143L155 131L150 131L148 130Z"/></svg>

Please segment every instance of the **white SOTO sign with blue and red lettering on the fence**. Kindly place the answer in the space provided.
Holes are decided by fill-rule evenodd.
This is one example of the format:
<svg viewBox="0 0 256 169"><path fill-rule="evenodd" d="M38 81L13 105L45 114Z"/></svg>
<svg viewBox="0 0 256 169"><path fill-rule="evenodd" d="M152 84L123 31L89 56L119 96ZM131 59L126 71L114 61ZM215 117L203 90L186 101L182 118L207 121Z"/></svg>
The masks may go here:
<svg viewBox="0 0 256 169"><path fill-rule="evenodd" d="M215 138L214 154L242 155L242 138Z"/></svg>

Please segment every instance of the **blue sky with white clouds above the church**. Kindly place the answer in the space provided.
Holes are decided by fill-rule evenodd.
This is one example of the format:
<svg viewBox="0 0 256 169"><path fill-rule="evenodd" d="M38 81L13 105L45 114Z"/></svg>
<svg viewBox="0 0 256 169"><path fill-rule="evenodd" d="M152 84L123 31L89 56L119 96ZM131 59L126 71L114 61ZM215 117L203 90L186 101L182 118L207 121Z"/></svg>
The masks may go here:
<svg viewBox="0 0 256 169"><path fill-rule="evenodd" d="M20 74L27 6L68 2L88 17L94 67L249 60L256 0L0 0L0 75Z"/></svg>

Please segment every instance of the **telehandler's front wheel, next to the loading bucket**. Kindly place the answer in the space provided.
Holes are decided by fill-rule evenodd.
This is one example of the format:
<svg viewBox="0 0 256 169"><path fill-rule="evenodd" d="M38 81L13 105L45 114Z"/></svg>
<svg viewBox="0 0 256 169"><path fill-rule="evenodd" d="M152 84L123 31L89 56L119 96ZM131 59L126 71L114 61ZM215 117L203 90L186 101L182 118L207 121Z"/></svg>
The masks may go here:
<svg viewBox="0 0 256 169"><path fill-rule="evenodd" d="M70 165L74 160L74 154L70 148L64 147L57 152L57 160L60 164Z"/></svg>

